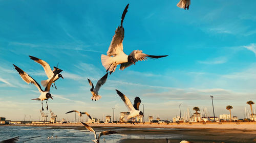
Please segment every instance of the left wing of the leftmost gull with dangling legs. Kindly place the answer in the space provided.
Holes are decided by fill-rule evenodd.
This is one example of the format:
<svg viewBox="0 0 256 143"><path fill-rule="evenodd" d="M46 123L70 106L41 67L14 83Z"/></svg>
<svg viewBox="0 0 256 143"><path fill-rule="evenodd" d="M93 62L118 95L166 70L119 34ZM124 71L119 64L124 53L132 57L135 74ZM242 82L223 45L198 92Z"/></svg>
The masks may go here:
<svg viewBox="0 0 256 143"><path fill-rule="evenodd" d="M40 84L37 83L37 82L35 81L35 79L33 79L33 78L32 78L31 76L29 76L26 72L24 72L22 69L20 69L19 67L15 66L14 64L13 64L13 66L14 66L15 69L17 70L19 76L22 77L22 79L23 79L25 82L27 82L28 84L29 84L29 83L34 84L34 85L37 87L37 89L38 89L38 91L39 91L40 93L41 93L41 92L44 92L44 91L42 91L42 89L41 89L41 87L40 87Z"/></svg>

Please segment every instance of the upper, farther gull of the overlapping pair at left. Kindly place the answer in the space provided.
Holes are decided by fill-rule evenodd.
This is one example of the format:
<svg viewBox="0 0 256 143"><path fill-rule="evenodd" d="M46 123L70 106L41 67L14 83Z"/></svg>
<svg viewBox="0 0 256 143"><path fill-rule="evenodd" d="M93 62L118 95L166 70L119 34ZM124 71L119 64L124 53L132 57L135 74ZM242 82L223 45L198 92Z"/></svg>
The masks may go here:
<svg viewBox="0 0 256 143"><path fill-rule="evenodd" d="M45 72L46 72L46 75L47 75L48 79L47 80L42 80L41 84L42 84L43 87L46 87L47 83L51 80L51 78L53 76L53 71L52 71L50 65L48 63L46 63L44 60L35 58L34 56L29 55L29 57L30 57L30 59L32 59L36 63L40 64L45 69ZM57 74L55 76L55 78L53 79L53 81L52 81L52 83L54 84L55 89L57 89L56 85L55 85L55 81L58 80L60 77L62 79L64 79L61 74Z"/></svg>

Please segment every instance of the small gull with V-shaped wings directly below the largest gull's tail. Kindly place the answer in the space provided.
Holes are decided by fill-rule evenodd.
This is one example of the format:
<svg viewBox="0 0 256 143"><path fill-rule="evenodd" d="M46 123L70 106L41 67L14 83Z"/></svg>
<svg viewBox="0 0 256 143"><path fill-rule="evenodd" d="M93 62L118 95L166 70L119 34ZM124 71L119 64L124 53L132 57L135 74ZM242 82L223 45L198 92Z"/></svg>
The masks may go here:
<svg viewBox="0 0 256 143"><path fill-rule="evenodd" d="M99 100L100 98L101 98L101 96L100 95L98 95L98 92L99 92L99 89L100 89L100 87L106 82L106 78L108 78L108 72L103 76L103 77L101 77L100 79L99 79L99 81L97 82L97 84L96 84L96 87L94 88L94 86L93 86L93 82L89 79L89 78L87 78L88 79L88 81L89 81L89 84L92 86L92 88L91 88L91 93L92 93L92 97L91 97L91 99L92 100Z"/></svg>

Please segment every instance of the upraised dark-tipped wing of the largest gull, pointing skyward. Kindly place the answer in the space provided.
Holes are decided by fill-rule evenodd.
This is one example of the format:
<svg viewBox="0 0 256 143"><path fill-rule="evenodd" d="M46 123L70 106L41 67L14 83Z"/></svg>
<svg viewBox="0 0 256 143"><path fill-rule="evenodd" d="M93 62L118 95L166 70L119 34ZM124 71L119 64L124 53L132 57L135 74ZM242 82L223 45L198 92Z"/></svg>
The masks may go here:
<svg viewBox="0 0 256 143"><path fill-rule="evenodd" d="M125 17L128 7L129 7L129 4L125 7L123 11L122 18L121 18L121 25L117 27L115 31L115 35L113 36L112 41L110 43L109 50L108 52L106 52L108 56L116 55L120 52L123 52L123 38L124 38L123 19Z"/></svg>

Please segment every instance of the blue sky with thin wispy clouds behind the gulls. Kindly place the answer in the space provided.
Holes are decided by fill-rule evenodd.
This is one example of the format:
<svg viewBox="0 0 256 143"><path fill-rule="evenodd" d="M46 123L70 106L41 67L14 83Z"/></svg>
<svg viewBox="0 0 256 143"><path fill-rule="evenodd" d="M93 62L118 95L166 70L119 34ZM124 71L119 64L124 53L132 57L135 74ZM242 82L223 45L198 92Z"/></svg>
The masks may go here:
<svg viewBox="0 0 256 143"><path fill-rule="evenodd" d="M96 84L104 75L100 55L106 54L128 3L124 52L169 56L116 70L99 91L102 98L91 101L87 78ZM198 106L212 115L213 95L216 115L229 113L225 107L232 105L233 115L243 118L246 102L255 102L256 2L198 0L188 11L177 3L0 0L0 116L23 120L26 114L38 120L41 104L30 99L39 93L12 66L38 82L47 79L32 55L63 70L64 79L56 81L58 90L51 89L48 102L59 119L73 120L65 112L74 109L100 119L112 116L112 107L126 111L115 89L132 102L139 96L146 117L173 118L179 104L182 114Z"/></svg>

